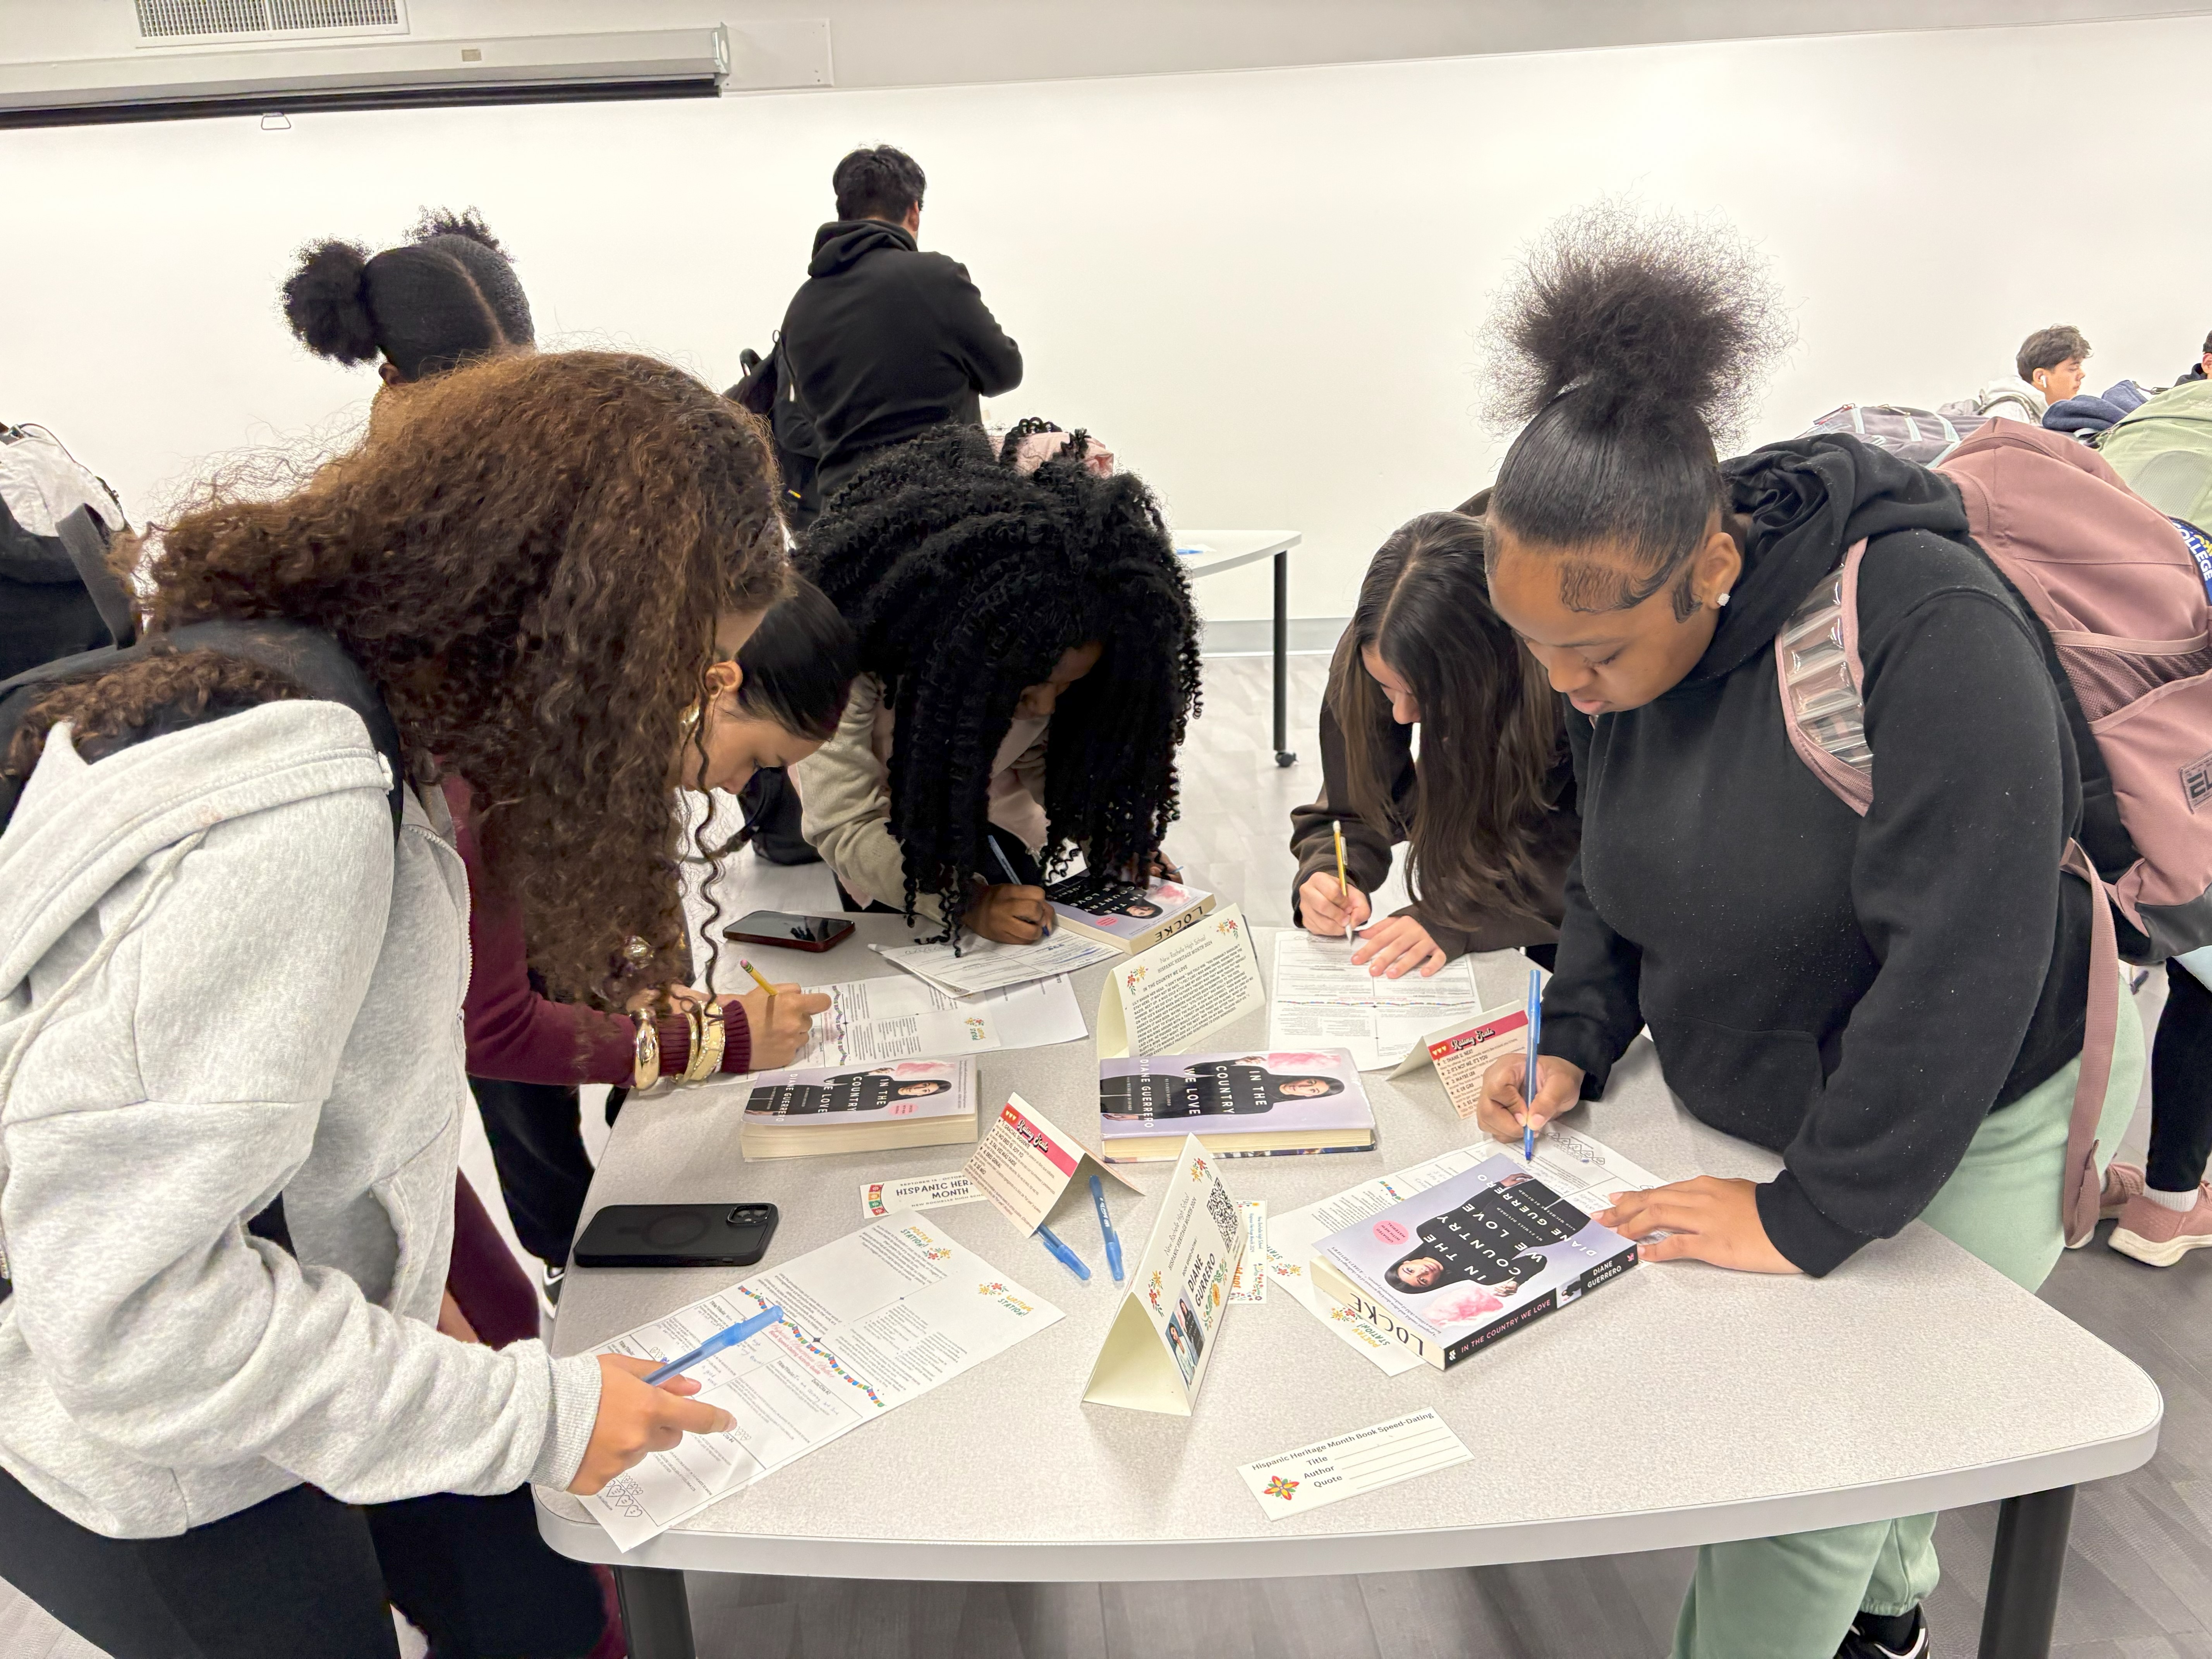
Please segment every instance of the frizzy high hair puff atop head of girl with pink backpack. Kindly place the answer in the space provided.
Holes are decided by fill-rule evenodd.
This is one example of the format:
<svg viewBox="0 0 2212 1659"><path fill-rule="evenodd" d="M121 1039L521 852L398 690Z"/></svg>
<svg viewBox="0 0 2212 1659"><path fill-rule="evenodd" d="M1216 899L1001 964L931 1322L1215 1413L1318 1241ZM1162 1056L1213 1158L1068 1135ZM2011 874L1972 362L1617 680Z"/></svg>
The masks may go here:
<svg viewBox="0 0 2212 1659"><path fill-rule="evenodd" d="M1599 414L1668 405L1723 438L1792 338L1778 283L1732 228L1599 201L1553 221L1498 301L1493 416L1520 425L1588 387Z"/></svg>

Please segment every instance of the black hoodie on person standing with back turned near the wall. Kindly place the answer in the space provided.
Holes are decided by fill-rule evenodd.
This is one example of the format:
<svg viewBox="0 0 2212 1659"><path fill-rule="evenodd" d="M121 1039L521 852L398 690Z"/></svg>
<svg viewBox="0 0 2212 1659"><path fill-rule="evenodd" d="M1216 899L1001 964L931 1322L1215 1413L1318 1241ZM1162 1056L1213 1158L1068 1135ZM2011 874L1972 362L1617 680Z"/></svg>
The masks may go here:
<svg viewBox="0 0 2212 1659"><path fill-rule="evenodd" d="M821 500L867 451L945 420L973 422L978 394L1022 385L1022 347L967 268L918 252L905 226L883 219L814 232L807 281L783 314L783 361L814 418Z"/></svg>

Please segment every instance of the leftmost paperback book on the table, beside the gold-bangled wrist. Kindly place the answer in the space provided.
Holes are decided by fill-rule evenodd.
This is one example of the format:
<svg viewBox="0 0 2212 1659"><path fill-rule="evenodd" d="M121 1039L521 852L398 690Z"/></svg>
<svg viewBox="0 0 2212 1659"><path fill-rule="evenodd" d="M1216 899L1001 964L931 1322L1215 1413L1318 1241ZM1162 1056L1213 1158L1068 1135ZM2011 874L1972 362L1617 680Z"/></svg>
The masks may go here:
<svg viewBox="0 0 2212 1659"><path fill-rule="evenodd" d="M748 1159L883 1152L973 1139L973 1060L754 1073L739 1128L739 1148Z"/></svg>

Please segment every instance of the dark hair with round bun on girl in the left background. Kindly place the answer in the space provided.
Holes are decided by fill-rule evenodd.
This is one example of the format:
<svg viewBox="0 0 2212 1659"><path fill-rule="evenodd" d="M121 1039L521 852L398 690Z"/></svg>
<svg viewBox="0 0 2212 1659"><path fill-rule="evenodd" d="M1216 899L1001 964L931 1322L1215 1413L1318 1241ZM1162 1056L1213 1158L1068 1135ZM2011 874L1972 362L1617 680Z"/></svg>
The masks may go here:
<svg viewBox="0 0 2212 1659"><path fill-rule="evenodd" d="M425 208L409 239L380 254L336 239L301 248L283 314L316 356L367 363L383 352L403 380L538 341L522 281L476 208Z"/></svg>

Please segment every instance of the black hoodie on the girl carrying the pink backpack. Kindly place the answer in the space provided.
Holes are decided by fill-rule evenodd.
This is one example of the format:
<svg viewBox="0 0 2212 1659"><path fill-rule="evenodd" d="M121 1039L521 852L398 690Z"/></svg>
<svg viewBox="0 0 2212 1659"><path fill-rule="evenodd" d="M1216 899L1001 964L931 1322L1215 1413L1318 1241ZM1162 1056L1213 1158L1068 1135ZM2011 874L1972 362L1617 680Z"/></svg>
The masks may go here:
<svg viewBox="0 0 2212 1659"><path fill-rule="evenodd" d="M1845 436L1723 471L1752 531L1705 655L1644 708L1568 710L1582 854L1542 1048L1595 1097L1648 1022L1699 1119L1783 1152L1759 1219L1823 1274L2081 1051L2081 785L2039 630L1947 478ZM1865 818L1790 748L1774 666L1858 538Z"/></svg>

